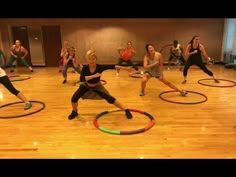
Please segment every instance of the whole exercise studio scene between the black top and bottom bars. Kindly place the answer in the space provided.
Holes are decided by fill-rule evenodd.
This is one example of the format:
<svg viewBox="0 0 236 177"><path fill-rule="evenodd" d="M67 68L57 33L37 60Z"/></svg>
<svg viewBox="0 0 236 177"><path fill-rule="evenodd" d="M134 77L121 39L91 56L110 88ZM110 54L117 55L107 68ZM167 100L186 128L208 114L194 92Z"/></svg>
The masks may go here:
<svg viewBox="0 0 236 177"><path fill-rule="evenodd" d="M235 100L235 18L0 18L1 159L234 159Z"/></svg>

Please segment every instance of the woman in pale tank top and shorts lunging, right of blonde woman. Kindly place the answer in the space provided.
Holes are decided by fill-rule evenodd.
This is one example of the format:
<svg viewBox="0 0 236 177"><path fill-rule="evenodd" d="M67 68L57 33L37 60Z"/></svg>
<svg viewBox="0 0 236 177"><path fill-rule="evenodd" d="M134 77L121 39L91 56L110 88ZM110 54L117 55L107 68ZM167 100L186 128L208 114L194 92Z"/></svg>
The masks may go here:
<svg viewBox="0 0 236 177"><path fill-rule="evenodd" d="M156 52L152 44L146 44L145 49L147 51L147 54L143 58L143 67L145 69L145 72L141 80L141 92L139 96L145 95L146 84L151 77L159 79L159 81L161 81L168 87L174 89L177 92L180 92L182 96L185 96L187 94L187 91L180 90L178 87L164 78L163 57L161 53Z"/></svg>

